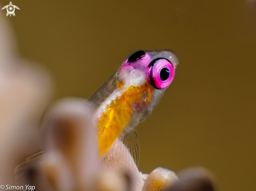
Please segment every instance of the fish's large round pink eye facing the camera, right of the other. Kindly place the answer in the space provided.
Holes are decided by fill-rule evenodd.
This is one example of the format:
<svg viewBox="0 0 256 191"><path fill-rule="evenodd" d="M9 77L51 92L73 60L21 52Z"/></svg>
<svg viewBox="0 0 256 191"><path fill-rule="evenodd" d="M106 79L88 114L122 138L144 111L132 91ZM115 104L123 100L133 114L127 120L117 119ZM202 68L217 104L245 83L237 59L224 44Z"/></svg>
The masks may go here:
<svg viewBox="0 0 256 191"><path fill-rule="evenodd" d="M154 59L148 67L151 83L155 88L164 89L170 85L174 78L174 67L168 59Z"/></svg>

